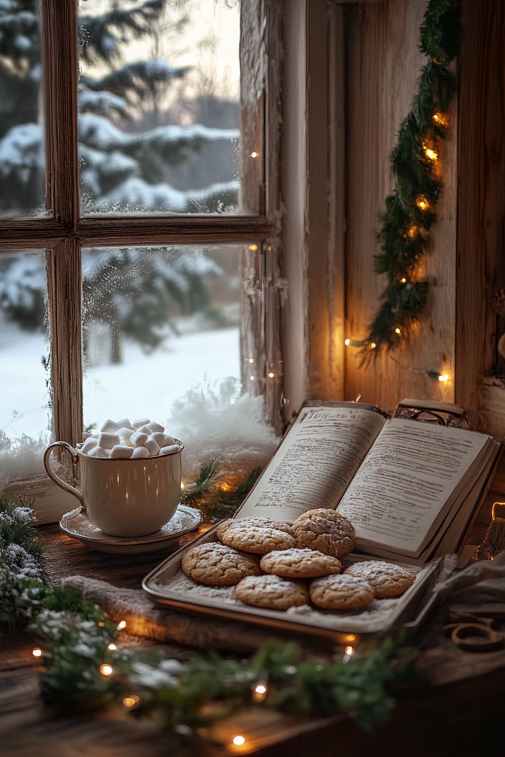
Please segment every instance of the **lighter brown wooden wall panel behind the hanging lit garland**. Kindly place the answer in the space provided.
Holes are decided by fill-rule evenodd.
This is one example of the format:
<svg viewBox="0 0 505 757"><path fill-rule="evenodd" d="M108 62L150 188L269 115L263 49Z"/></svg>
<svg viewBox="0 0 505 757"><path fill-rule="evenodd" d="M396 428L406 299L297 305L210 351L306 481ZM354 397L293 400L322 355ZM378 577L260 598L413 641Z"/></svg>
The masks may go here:
<svg viewBox="0 0 505 757"><path fill-rule="evenodd" d="M472 0L470 0L472 2ZM376 232L386 195L393 187L389 155L410 110L419 69L419 26L425 0L383 0L346 9L348 17L348 213L347 336L366 337L385 279L373 272ZM391 410L403 397L454 401L454 297L456 258L456 130L454 104L444 149L444 191L432 229L426 276L429 306L408 346L394 357L405 366L447 372L442 384L401 369L385 356L357 368L358 350L346 350L345 399Z"/></svg>

